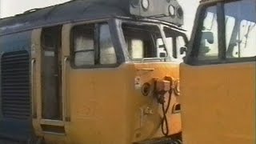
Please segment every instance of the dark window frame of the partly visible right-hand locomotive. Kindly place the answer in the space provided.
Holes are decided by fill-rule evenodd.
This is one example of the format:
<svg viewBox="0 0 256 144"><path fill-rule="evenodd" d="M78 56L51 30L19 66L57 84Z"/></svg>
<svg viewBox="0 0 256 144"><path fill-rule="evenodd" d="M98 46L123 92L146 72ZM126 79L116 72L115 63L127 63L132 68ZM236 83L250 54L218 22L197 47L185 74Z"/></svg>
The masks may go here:
<svg viewBox="0 0 256 144"><path fill-rule="evenodd" d="M225 4L229 2L239 2L242 0L227 0L218 2L206 2L198 7L197 18L195 19L195 29L191 35L189 44L189 53L185 58L185 63L189 65L212 65L223 63L235 63L235 62L255 62L256 56L249 58L226 58L226 24L225 24ZM218 22L218 59L214 60L199 60L198 52L200 48L200 41L202 38L202 25L204 20L204 14L208 7L216 6L217 10L217 22ZM220 31L223 31L220 33Z"/></svg>

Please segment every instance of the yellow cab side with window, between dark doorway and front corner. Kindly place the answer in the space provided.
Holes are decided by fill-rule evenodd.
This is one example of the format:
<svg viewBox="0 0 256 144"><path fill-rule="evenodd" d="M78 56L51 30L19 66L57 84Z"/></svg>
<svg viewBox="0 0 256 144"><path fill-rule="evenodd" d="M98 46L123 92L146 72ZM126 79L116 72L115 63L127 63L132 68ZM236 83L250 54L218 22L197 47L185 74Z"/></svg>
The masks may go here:
<svg viewBox="0 0 256 144"><path fill-rule="evenodd" d="M70 120L66 127L75 139L71 143L124 141L125 130L109 133L124 126L122 118L126 118L121 113L126 96L122 91L124 68L118 63L122 53L114 42L118 37L111 37L116 35L111 22L72 23L62 28L62 95L64 118Z"/></svg>

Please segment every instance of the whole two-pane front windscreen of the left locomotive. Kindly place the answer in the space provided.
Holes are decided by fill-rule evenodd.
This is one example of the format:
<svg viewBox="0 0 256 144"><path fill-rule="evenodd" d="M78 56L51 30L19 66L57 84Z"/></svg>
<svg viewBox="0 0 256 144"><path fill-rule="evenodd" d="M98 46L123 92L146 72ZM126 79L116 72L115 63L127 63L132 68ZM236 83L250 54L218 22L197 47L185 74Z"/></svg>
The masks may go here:
<svg viewBox="0 0 256 144"><path fill-rule="evenodd" d="M184 56L179 49L186 45L185 35L169 27L123 23L122 33L131 60L182 60Z"/></svg>

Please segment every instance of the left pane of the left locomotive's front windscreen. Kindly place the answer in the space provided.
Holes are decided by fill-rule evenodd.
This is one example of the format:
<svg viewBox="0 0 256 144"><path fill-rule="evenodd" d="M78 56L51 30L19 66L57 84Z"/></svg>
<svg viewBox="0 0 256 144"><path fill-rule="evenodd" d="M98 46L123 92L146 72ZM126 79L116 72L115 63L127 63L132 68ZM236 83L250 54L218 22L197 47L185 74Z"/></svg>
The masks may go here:
<svg viewBox="0 0 256 144"><path fill-rule="evenodd" d="M166 57L158 26L122 24L127 51L132 60Z"/></svg>

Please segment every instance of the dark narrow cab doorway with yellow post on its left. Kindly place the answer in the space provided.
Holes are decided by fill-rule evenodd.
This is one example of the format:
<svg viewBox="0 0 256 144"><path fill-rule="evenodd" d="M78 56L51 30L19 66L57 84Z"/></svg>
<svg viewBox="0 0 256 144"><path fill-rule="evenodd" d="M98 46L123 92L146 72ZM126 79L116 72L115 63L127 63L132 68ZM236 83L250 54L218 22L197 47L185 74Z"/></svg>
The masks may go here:
<svg viewBox="0 0 256 144"><path fill-rule="evenodd" d="M62 26L33 31L32 115L40 132L65 134L62 102Z"/></svg>

